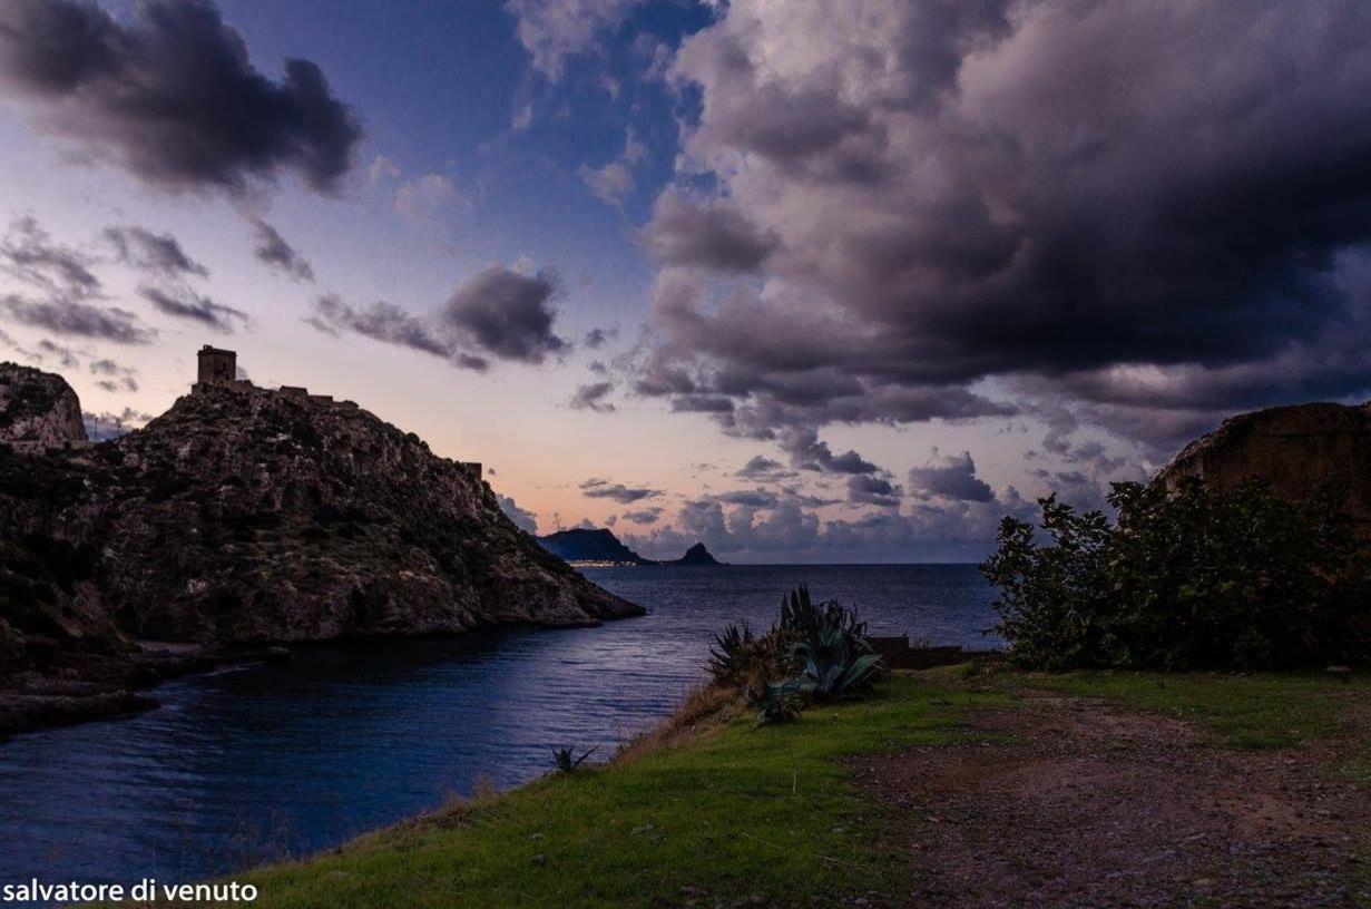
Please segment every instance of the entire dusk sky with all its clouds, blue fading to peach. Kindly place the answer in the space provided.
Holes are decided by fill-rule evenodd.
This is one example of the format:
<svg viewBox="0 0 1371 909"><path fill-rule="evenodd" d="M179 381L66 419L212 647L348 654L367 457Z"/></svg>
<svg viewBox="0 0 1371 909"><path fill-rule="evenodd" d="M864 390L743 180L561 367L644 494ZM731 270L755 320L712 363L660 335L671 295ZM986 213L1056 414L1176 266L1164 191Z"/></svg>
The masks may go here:
<svg viewBox="0 0 1371 909"><path fill-rule="evenodd" d="M1371 396L1360 0L5 0L0 358L195 351L651 557L973 561Z"/></svg>

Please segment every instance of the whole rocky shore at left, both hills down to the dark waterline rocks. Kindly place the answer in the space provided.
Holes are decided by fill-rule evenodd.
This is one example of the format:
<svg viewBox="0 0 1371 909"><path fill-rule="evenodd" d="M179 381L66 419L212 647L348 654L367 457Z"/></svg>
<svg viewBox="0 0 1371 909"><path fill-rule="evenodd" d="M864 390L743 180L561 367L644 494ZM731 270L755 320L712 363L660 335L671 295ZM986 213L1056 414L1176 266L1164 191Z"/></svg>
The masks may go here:
<svg viewBox="0 0 1371 909"><path fill-rule="evenodd" d="M515 528L478 465L351 402L200 383L90 444L59 376L0 365L0 734L278 643L643 613Z"/></svg>

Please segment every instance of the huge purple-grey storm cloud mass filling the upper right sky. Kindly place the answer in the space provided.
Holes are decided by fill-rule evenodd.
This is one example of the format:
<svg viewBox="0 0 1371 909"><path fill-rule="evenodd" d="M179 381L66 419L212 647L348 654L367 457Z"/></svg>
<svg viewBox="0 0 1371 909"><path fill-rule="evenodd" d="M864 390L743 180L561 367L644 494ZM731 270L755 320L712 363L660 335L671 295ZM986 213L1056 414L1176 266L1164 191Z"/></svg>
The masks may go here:
<svg viewBox="0 0 1371 909"><path fill-rule="evenodd" d="M1368 44L1359 0L736 0L673 67L718 191L644 229L638 387L727 378L750 435L928 418L986 377L1149 439L1364 395ZM802 370L861 391L784 400Z"/></svg>

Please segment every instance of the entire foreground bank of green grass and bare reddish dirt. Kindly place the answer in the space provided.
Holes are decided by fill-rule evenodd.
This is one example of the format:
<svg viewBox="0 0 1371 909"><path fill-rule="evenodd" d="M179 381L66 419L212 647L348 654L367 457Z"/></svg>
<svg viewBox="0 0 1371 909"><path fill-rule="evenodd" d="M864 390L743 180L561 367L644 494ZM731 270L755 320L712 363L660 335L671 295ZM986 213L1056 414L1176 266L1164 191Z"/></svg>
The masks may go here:
<svg viewBox="0 0 1371 909"><path fill-rule="evenodd" d="M1368 691L964 664L757 728L703 687L606 765L233 879L266 906L321 908L1278 905L1250 902L1263 887L1334 905L1371 882ZM1233 849L1211 849L1220 835Z"/></svg>

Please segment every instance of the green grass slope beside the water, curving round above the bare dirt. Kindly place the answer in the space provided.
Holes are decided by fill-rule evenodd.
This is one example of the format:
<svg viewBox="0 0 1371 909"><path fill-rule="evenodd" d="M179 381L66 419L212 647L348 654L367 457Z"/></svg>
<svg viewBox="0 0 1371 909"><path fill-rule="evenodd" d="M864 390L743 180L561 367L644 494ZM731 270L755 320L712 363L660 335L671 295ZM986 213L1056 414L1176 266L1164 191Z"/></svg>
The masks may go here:
<svg viewBox="0 0 1371 909"><path fill-rule="evenodd" d="M908 856L882 851L882 813L840 758L964 736L968 707L1021 687L1180 712L1235 747L1285 747L1345 731L1352 687L1312 676L995 672L894 679L866 703L792 725L747 720L609 769L548 777L240 880L267 906L658 906L761 895L836 905L908 894Z"/></svg>

